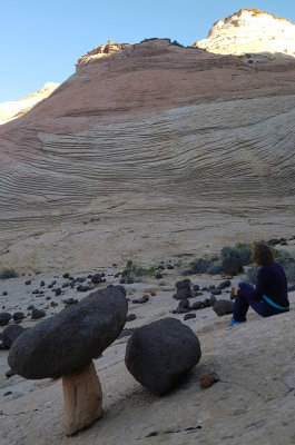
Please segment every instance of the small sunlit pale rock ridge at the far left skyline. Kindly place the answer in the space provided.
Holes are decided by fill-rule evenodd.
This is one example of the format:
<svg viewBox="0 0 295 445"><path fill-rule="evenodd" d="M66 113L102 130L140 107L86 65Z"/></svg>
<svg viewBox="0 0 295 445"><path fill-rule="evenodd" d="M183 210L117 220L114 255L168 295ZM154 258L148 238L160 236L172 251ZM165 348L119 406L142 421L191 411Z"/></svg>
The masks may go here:
<svg viewBox="0 0 295 445"><path fill-rule="evenodd" d="M0 125L26 115L37 103L48 98L59 86L60 83L47 82L40 90L23 99L0 103Z"/></svg>

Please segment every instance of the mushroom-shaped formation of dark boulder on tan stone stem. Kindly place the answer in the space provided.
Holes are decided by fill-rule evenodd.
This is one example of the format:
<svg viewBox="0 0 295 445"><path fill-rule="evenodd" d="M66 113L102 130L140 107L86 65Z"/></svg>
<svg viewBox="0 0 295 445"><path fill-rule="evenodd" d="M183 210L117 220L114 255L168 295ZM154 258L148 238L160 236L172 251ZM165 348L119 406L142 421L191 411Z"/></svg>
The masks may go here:
<svg viewBox="0 0 295 445"><path fill-rule="evenodd" d="M111 286L40 322L13 343L8 363L16 374L62 376L66 435L101 417L102 394L92 358L119 336L126 317L126 291Z"/></svg>

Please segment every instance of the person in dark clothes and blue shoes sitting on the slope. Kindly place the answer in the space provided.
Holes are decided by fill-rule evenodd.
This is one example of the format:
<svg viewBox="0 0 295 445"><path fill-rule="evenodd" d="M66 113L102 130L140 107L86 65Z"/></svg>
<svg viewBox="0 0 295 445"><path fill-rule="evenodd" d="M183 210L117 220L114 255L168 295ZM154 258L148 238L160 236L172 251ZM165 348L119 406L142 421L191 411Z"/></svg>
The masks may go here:
<svg viewBox="0 0 295 445"><path fill-rule="evenodd" d="M246 322L249 306L262 317L289 310L287 278L282 266L274 261L272 249L257 243L252 250L252 259L260 266L256 286L240 283L235 288L233 318L227 327Z"/></svg>

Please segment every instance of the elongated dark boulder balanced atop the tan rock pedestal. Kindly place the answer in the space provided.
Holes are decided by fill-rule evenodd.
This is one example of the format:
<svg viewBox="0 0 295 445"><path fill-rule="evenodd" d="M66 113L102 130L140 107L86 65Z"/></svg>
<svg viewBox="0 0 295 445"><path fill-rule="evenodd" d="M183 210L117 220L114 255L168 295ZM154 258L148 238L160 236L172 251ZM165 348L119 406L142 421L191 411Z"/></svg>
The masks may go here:
<svg viewBox="0 0 295 445"><path fill-rule="evenodd" d="M119 336L126 316L122 286L95 291L21 335L10 349L9 366L26 378L69 374L99 356Z"/></svg>

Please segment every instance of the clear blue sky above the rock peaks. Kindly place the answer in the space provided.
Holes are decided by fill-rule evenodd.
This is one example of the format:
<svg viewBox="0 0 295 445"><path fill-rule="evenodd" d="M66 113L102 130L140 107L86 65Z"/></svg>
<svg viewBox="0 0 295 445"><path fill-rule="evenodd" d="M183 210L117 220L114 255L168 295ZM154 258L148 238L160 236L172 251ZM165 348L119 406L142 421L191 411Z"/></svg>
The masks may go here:
<svg viewBox="0 0 295 445"><path fill-rule="evenodd" d="M108 39L157 37L190 46L215 21L245 8L295 22L295 0L0 0L0 102L65 81L80 56Z"/></svg>

